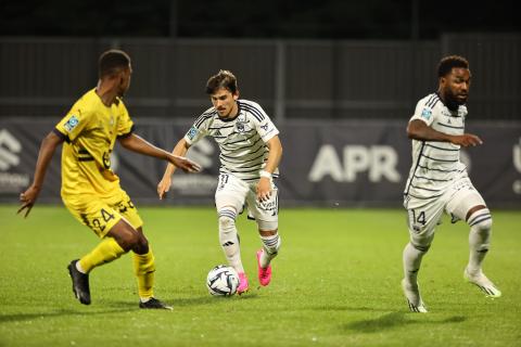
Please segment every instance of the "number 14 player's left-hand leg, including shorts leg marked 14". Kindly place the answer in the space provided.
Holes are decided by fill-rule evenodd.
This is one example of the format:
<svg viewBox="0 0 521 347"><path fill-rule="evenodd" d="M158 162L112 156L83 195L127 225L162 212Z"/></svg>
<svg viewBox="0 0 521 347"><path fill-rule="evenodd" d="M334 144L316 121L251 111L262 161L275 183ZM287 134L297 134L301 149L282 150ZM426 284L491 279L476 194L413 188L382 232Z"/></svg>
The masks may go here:
<svg viewBox="0 0 521 347"><path fill-rule="evenodd" d="M414 206L414 207L412 207ZM407 206L409 242L403 252L404 279L402 288L412 312L427 312L418 284L423 256L429 250L434 239L434 230L443 215L443 201L430 203L410 202Z"/></svg>

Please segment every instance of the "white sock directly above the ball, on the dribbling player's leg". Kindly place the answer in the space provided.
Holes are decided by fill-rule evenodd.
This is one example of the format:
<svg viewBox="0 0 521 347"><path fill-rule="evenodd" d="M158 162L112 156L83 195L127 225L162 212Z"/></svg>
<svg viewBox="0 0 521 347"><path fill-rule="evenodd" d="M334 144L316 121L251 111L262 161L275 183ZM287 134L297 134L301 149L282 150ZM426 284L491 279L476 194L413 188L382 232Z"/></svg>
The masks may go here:
<svg viewBox="0 0 521 347"><path fill-rule="evenodd" d="M236 210L232 208L219 210L219 241L230 267L238 273L244 272L236 228Z"/></svg>

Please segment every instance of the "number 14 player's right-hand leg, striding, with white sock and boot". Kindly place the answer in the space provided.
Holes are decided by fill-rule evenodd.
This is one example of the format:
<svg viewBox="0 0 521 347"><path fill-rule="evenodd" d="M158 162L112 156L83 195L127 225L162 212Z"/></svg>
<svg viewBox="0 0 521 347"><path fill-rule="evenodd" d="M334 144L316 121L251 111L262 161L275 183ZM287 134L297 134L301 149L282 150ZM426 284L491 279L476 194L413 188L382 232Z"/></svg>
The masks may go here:
<svg viewBox="0 0 521 347"><path fill-rule="evenodd" d="M447 211L458 219L467 221L469 232L469 262L463 278L480 287L490 297L500 297L501 292L483 273L482 265L488 253L492 235L492 216L481 194L470 180L447 204Z"/></svg>

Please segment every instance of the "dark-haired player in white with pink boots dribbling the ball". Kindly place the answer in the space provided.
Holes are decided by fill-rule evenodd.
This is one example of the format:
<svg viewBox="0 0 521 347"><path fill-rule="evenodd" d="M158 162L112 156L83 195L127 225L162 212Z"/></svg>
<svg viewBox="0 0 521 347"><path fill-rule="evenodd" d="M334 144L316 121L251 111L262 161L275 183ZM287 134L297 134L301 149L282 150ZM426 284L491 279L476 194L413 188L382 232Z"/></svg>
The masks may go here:
<svg viewBox="0 0 521 347"><path fill-rule="evenodd" d="M257 271L260 285L271 280L270 261L279 252L278 191L274 178L282 156L279 130L255 102L239 99L237 79L232 73L220 70L206 83L213 107L194 123L173 153L182 155L208 136L220 149L220 168L215 205L218 214L219 241L228 264L239 273L239 294L249 290L247 277L241 260L236 219L247 207L255 218L263 248L257 250ZM169 190L175 166L168 165L157 184L163 198Z"/></svg>

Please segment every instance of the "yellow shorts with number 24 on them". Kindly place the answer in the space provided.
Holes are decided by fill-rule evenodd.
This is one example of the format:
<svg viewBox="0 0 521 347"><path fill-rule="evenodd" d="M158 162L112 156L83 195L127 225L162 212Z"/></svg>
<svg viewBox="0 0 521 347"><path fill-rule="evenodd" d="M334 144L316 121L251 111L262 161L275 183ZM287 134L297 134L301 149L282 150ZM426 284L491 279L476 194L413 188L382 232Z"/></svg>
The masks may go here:
<svg viewBox="0 0 521 347"><path fill-rule="evenodd" d="M62 200L71 214L100 237L104 237L122 218L135 229L143 224L138 209L122 189L109 198L87 193L62 195Z"/></svg>

